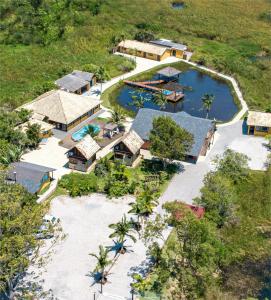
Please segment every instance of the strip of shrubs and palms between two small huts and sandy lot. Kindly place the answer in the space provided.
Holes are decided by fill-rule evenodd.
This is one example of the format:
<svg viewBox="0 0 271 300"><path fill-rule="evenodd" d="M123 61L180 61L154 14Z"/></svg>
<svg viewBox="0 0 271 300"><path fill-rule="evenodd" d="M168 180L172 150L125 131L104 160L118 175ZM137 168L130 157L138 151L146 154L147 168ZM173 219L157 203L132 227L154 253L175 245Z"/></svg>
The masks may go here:
<svg viewBox="0 0 271 300"><path fill-rule="evenodd" d="M137 168L128 168L110 157L99 160L95 170L89 174L71 173L59 182L72 197L88 195L92 192L106 193L109 197L137 194L146 187L162 191L165 184L177 171L177 166L161 161L144 160Z"/></svg>

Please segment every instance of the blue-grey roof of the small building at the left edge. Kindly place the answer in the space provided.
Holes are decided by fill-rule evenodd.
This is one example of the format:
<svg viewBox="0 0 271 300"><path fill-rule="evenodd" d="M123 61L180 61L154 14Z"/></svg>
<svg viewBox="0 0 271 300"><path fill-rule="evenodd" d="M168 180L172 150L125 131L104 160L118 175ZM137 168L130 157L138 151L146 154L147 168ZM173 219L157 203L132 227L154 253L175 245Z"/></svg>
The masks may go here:
<svg viewBox="0 0 271 300"><path fill-rule="evenodd" d="M7 179L16 180L16 183L21 184L29 193L34 194L40 189L43 176L52 171L55 169L23 161L15 162L10 165Z"/></svg>

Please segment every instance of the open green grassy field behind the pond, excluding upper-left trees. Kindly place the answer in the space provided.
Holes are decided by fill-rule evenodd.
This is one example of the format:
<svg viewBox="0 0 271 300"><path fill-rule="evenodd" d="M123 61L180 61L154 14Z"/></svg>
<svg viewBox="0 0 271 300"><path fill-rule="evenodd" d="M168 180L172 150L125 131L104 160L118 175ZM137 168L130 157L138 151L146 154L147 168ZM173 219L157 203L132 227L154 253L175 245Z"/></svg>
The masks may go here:
<svg viewBox="0 0 271 300"><path fill-rule="evenodd" d="M271 2L268 0L186 0L183 10L170 0L107 0L98 15L85 14L64 38L47 46L0 45L0 105L30 101L43 85L84 64L104 65L120 74L120 57L112 56L112 38L133 38L146 28L157 37L189 45L193 60L232 74L251 108L271 102ZM65 12L63 12L64 14ZM267 14L267 17L266 17ZM265 16L265 17L264 17Z"/></svg>

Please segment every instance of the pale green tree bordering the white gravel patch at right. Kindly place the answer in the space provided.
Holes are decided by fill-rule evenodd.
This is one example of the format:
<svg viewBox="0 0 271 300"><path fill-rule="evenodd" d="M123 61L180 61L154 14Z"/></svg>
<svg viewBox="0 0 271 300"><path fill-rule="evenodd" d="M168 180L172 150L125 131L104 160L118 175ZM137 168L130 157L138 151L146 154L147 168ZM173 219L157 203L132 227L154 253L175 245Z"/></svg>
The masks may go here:
<svg viewBox="0 0 271 300"><path fill-rule="evenodd" d="M227 149L223 155L216 156L214 163L216 164L216 171L237 183L248 176L248 160L249 158L245 154Z"/></svg>

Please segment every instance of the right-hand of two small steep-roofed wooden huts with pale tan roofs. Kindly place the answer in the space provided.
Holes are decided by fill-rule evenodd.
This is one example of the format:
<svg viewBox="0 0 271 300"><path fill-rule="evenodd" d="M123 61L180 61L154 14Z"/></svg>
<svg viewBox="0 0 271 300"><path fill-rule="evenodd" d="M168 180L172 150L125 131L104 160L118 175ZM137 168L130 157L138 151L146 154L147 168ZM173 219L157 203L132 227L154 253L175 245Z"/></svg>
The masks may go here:
<svg viewBox="0 0 271 300"><path fill-rule="evenodd" d="M114 156L127 166L133 166L140 155L143 144L144 141L141 137L134 130L130 130L114 146Z"/></svg>

